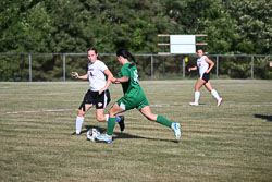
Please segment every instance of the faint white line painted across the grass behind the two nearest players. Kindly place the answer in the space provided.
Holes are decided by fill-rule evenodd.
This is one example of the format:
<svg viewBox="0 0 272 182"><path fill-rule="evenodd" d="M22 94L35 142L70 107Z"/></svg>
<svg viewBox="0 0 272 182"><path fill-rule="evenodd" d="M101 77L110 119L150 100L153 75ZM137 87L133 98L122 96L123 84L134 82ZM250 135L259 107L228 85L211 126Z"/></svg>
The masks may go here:
<svg viewBox="0 0 272 182"><path fill-rule="evenodd" d="M152 108L169 108L169 107L176 107L176 106L181 106L181 107L211 107L214 106L217 107L217 105L211 105L211 104L200 104L199 106L189 106L188 104L185 102L172 102L172 104L157 104L157 105L150 105L150 107ZM240 104L222 104L221 107L247 107L247 106L251 106L251 107L272 107L272 102L264 102L264 104L254 104L250 105L248 102L240 102ZM91 108L94 109L94 108ZM40 112L66 112L66 111L77 111L77 109L47 109L47 110L40 110L40 111L10 111L10 112L4 112L3 114L16 114L16 113L40 113Z"/></svg>

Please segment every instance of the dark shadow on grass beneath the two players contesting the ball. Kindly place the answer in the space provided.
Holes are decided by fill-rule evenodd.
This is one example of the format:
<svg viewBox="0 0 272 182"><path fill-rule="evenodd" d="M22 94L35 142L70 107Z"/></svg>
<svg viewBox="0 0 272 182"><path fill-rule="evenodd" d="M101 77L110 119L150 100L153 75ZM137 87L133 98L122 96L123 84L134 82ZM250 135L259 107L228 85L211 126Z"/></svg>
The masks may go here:
<svg viewBox="0 0 272 182"><path fill-rule="evenodd" d="M107 130L104 128L99 128L97 125L86 125L84 131L82 133L86 133L90 128L96 128L100 131L100 133L104 133ZM160 138L151 138L151 137L144 137L144 136L138 136L138 135L132 135L128 133L123 133L123 132L113 132L116 136L113 137L113 141L115 139L148 139L148 141L163 141L163 142L173 142L173 143L178 143L175 139L160 139Z"/></svg>

